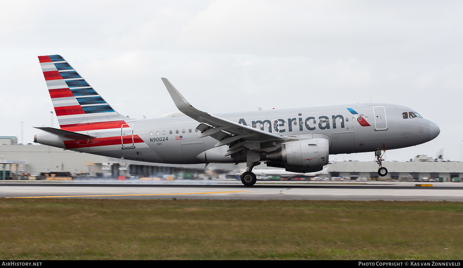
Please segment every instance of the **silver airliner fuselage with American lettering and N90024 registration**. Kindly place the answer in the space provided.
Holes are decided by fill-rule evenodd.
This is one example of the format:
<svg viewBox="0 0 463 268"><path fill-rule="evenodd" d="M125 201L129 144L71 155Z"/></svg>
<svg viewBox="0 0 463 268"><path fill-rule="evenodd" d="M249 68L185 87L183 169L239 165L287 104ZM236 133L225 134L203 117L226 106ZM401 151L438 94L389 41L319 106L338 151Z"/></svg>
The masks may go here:
<svg viewBox="0 0 463 268"><path fill-rule="evenodd" d="M344 154L405 148L428 142L438 136L440 130L435 123L421 117L404 118L403 114L408 112L415 111L394 104L362 103L215 115L289 138L326 138L329 141L330 154ZM276 125L272 123L274 120L278 120ZM101 143L86 147L82 142L78 147L69 147L65 144L65 139L49 133L38 134L36 141L63 149L144 162L237 162L232 156L216 157L214 161L198 156L213 148L218 140L213 137L198 138L200 132L195 129L199 123L188 116L133 119L125 122L125 128L75 131L96 136L97 139L120 137L119 144ZM225 150L219 151L228 149L228 146L224 146ZM277 150L278 146L278 143L266 143L255 151L270 152Z"/></svg>

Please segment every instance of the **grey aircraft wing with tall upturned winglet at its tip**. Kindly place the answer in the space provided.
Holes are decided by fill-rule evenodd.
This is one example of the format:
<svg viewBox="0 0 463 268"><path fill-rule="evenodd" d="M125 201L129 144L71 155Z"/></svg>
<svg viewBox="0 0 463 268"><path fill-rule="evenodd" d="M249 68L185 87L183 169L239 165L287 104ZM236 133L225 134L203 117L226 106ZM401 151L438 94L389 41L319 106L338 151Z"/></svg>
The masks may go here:
<svg viewBox="0 0 463 268"><path fill-rule="evenodd" d="M255 129L247 125L241 125L236 122L232 122L230 120L209 114L207 112L200 111L194 108L169 82L169 80L166 78L161 79L169 91L172 100L174 100L175 106L177 106L180 112L183 112L194 120L203 123L200 124L197 128L201 131L201 134L198 137L211 136L219 140L219 143L215 145L216 147L233 143L234 141L237 141L241 138L256 141L284 139L281 135Z"/></svg>

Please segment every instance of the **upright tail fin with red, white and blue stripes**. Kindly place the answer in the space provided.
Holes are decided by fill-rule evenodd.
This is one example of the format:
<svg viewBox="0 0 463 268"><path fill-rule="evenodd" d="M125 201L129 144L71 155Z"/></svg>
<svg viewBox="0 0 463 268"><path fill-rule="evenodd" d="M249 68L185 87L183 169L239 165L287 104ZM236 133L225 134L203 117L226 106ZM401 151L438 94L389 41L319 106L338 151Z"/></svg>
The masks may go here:
<svg viewBox="0 0 463 268"><path fill-rule="evenodd" d="M121 121L123 115L103 100L59 55L38 56L61 128Z"/></svg>

